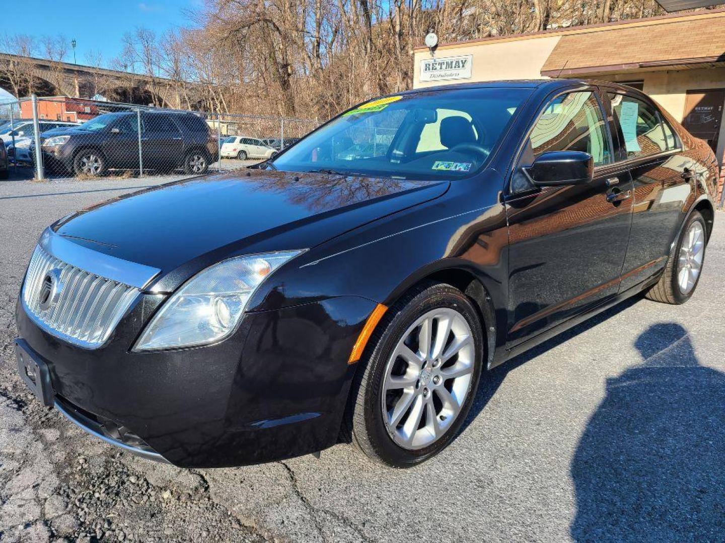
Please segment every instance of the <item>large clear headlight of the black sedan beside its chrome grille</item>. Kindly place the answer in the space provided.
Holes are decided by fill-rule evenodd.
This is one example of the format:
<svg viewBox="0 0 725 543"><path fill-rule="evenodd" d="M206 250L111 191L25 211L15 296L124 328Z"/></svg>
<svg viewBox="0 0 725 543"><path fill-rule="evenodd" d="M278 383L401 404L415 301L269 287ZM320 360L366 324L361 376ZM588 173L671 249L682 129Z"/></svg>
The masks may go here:
<svg viewBox="0 0 725 543"><path fill-rule="evenodd" d="M133 350L196 347L230 336L254 290L299 253L239 256L200 271L164 302Z"/></svg>

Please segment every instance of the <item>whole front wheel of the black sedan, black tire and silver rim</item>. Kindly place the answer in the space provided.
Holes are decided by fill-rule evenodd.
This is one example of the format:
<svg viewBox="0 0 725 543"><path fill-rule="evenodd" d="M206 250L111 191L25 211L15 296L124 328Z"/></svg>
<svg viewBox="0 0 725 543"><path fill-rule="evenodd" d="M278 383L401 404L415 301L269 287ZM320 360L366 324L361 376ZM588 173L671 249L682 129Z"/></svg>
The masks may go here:
<svg viewBox="0 0 725 543"><path fill-rule="evenodd" d="M478 313L463 292L426 283L389 309L353 382L352 442L394 468L443 450L476 396L483 358Z"/></svg>

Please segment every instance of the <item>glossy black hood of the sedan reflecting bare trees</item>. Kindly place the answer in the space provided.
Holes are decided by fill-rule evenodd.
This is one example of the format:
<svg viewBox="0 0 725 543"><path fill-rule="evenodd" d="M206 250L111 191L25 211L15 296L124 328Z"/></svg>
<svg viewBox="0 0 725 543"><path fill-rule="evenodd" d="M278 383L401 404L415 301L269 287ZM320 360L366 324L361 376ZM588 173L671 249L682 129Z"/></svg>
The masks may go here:
<svg viewBox="0 0 725 543"><path fill-rule="evenodd" d="M53 229L94 251L165 274L194 259L312 248L437 198L449 185L239 169L123 195L78 211Z"/></svg>

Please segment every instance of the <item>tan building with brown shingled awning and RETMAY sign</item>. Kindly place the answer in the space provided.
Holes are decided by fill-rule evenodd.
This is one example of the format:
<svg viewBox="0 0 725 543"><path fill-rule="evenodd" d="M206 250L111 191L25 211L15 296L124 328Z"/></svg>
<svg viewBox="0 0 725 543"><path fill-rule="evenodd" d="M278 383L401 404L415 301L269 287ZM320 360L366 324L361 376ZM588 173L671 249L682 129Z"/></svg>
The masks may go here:
<svg viewBox="0 0 725 543"><path fill-rule="evenodd" d="M725 179L725 9L415 49L414 88L576 77L644 90L708 141Z"/></svg>

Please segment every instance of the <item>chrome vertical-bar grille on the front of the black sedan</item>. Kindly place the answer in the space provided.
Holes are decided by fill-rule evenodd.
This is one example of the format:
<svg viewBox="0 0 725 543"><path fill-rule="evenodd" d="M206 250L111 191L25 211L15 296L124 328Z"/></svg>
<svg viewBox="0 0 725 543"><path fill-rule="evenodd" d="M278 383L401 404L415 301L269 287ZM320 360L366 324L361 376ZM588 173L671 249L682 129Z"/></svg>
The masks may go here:
<svg viewBox="0 0 725 543"><path fill-rule="evenodd" d="M46 277L51 272L62 288L48 303ZM71 266L38 245L25 275L22 301L30 318L46 332L93 349L108 339L139 292L136 287Z"/></svg>

